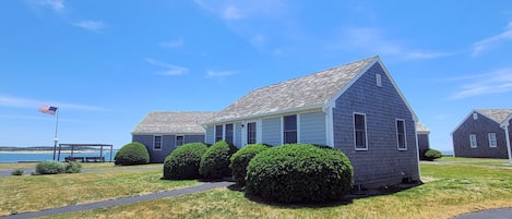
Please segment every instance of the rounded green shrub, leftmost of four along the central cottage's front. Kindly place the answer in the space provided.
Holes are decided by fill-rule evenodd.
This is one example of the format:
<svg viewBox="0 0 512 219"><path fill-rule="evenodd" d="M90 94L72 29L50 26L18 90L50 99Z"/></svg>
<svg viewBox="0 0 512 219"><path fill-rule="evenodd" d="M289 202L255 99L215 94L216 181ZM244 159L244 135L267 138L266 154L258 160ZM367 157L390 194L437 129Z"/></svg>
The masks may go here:
<svg viewBox="0 0 512 219"><path fill-rule="evenodd" d="M203 143L189 143L181 145L165 158L164 179L166 180L193 180L199 179L199 166L201 156L207 150Z"/></svg>

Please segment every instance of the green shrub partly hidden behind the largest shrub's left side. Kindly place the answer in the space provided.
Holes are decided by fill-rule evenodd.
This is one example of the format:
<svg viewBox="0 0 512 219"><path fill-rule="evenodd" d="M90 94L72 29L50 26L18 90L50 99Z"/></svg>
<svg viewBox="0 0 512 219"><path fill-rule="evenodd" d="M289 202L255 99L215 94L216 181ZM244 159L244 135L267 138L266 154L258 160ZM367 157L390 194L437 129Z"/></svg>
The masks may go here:
<svg viewBox="0 0 512 219"><path fill-rule="evenodd" d="M231 169L233 179L235 179L238 185L246 185L246 173L249 161L267 148L269 146L263 144L247 145L231 156L229 168Z"/></svg>

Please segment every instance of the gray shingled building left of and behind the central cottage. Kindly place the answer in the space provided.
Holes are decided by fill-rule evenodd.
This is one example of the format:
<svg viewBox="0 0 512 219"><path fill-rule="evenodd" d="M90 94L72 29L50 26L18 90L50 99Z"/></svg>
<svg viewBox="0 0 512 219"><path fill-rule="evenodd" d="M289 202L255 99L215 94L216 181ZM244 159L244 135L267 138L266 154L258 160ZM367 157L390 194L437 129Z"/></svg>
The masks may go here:
<svg viewBox="0 0 512 219"><path fill-rule="evenodd" d="M214 112L150 112L133 130L132 142L150 151L150 162L164 162L182 144L204 142L203 122Z"/></svg>

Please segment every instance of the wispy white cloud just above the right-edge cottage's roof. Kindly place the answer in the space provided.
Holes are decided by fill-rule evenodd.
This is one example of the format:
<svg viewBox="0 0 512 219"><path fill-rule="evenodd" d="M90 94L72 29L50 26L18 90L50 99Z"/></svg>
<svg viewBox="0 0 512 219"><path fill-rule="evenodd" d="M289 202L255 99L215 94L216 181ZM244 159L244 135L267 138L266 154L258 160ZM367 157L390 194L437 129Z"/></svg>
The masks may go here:
<svg viewBox="0 0 512 219"><path fill-rule="evenodd" d="M512 69L501 69L486 74L469 75L466 77L452 78L449 81L460 81L464 84L460 90L448 99L464 99L468 97L501 94L512 92Z"/></svg>

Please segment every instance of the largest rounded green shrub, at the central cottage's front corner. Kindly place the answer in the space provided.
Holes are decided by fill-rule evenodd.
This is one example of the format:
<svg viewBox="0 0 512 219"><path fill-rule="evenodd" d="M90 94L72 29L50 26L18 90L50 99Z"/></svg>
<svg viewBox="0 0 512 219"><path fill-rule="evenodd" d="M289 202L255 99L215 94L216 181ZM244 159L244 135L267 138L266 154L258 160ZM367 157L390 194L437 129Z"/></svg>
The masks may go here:
<svg viewBox="0 0 512 219"><path fill-rule="evenodd" d="M282 203L322 203L344 198L352 181L352 163L341 150L289 144L269 148L249 162L246 192Z"/></svg>

